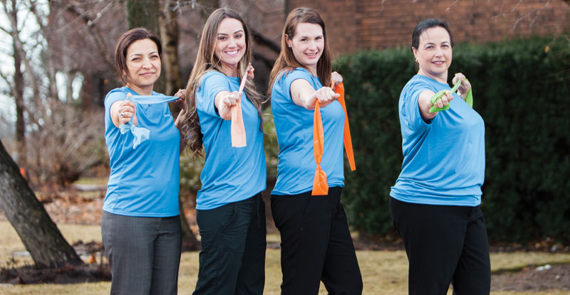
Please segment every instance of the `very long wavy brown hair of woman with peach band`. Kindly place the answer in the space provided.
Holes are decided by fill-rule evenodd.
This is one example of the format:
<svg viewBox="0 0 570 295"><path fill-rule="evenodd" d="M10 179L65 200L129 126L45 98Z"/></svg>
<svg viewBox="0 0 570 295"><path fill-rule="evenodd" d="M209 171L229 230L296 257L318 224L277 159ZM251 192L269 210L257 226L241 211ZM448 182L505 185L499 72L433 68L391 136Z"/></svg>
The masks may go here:
<svg viewBox="0 0 570 295"><path fill-rule="evenodd" d="M200 38L198 47L198 55L194 63L194 68L192 68L192 73L190 73L188 84L186 85L186 112L181 114L182 127L180 128L180 131L182 132L182 141L187 141L187 146L190 148L194 156L202 156L202 132L200 132L200 122L196 110L196 91L199 90L200 80L205 73L211 70L217 70L221 73L222 65L219 58L214 53L217 42L218 27L224 18L235 18L241 22L244 27L246 52L244 53L242 60L239 60L237 65L237 75L240 80L242 79L242 75L249 64L249 61L252 60L253 50L251 34L249 33L249 29L242 19L242 16L239 16L236 11L226 8L217 9L212 12L204 25L204 29L202 30L202 37ZM261 128L263 124L263 117L261 115L261 104L263 103L263 99L255 90L254 82L251 80L247 80L244 92L252 104L257 108L257 114L261 119Z"/></svg>

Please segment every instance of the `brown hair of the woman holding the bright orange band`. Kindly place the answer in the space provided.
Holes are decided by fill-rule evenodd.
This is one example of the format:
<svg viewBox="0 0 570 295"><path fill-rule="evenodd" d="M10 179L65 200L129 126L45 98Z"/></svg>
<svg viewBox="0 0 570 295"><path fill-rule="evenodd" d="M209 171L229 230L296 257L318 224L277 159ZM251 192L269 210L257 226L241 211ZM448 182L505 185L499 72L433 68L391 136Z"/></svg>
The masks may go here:
<svg viewBox="0 0 570 295"><path fill-rule="evenodd" d="M285 26L283 27L283 33L281 33L281 53L279 53L279 58L277 58L273 69L271 70L271 75L269 75L269 90L267 90L267 96L271 97L271 90L273 89L273 83L277 79L280 73L289 73L294 68L306 68L304 65L299 63L299 60L295 58L293 54L293 49L287 45L287 38L293 40L295 36L295 31L297 24L299 23L314 23L321 28L323 28L323 38L325 39L325 45L323 48L323 54L321 58L318 59L316 64L316 71L318 79L321 80L323 86L331 85L331 50L328 47L328 38L326 37L325 23L323 18L318 14L315 9L309 9L306 7L298 7L293 9L287 20L285 21ZM309 70L308 68L306 68Z"/></svg>

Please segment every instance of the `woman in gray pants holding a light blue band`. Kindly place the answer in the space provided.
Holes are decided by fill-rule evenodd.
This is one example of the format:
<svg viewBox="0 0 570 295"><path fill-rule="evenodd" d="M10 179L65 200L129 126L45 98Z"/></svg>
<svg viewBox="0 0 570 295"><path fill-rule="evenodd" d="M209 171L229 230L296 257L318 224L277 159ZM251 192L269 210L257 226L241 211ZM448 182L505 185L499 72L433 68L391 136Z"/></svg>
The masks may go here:
<svg viewBox="0 0 570 295"><path fill-rule="evenodd" d="M178 208L180 132L168 104L135 104L160 77L160 38L145 28L121 36L115 49L125 87L105 97L105 142L110 176L101 235L113 280L111 294L177 294L182 246ZM149 131L135 144L121 124Z"/></svg>

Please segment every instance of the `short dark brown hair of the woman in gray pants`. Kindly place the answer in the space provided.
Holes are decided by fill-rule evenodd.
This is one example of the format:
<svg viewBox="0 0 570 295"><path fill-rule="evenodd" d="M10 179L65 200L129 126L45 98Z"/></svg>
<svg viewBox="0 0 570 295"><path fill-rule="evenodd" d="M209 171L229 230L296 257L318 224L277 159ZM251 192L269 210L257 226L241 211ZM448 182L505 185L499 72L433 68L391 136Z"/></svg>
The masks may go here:
<svg viewBox="0 0 570 295"><path fill-rule="evenodd" d="M148 30L147 28L133 28L125 32L123 36L120 36L117 42L117 47L115 48L115 69L119 74L120 80L123 83L128 83L128 68L127 68L127 50L131 44L135 41L150 39L156 43L158 49L158 55L162 57L162 45L160 44L160 38Z"/></svg>

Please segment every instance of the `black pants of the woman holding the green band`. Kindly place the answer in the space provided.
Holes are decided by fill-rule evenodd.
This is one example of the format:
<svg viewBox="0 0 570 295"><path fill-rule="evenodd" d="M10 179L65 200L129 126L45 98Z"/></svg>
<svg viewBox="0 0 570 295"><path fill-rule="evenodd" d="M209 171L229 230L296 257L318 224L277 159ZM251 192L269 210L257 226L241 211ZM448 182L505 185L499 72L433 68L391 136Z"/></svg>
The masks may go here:
<svg viewBox="0 0 570 295"><path fill-rule="evenodd" d="M405 203L390 198L390 214L410 263L409 294L489 294L491 262L479 206Z"/></svg>

